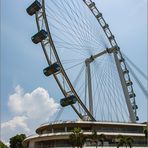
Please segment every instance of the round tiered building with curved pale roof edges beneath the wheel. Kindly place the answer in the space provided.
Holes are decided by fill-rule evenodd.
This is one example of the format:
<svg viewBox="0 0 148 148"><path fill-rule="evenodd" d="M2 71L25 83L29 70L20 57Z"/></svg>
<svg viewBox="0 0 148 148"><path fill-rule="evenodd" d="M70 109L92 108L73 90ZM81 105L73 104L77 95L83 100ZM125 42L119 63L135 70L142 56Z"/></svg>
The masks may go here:
<svg viewBox="0 0 148 148"><path fill-rule="evenodd" d="M105 146L116 146L115 138L118 135L129 136L134 139L133 146L146 146L146 138L143 133L146 123L113 123L92 121L58 121L42 124L36 129L36 135L29 136L24 143L29 148L72 147L69 135L75 127L80 127L84 135L91 135L97 131L97 135L104 134ZM100 143L98 142L98 146ZM93 142L85 142L85 147L94 146Z"/></svg>

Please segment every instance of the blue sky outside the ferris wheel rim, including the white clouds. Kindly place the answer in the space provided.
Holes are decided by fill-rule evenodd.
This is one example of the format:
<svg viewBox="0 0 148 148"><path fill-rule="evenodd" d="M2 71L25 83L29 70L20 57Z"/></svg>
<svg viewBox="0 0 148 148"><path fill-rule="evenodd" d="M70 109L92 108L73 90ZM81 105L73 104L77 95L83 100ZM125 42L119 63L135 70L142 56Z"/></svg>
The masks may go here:
<svg viewBox="0 0 148 148"><path fill-rule="evenodd" d="M121 50L146 73L147 1L95 1L110 25ZM58 110L57 103L62 96L55 81L52 78L47 79L42 73L42 69L46 67L47 63L41 46L33 44L30 39L37 28L34 17L30 17L26 13L29 4L30 0L1 1L0 99L1 122L3 123L1 135L5 142L8 142L9 137L13 134L21 132L30 134L39 124L54 120L52 115ZM143 84L146 84L141 77L140 79ZM146 98L136 85L135 90L140 121L146 121ZM42 96L41 104L35 99L40 95ZM16 98L20 98L21 101L16 100ZM28 104L25 101L27 98L31 100L28 101ZM43 102L50 105L46 106ZM31 103L36 103L34 110L30 109ZM19 108L19 106L21 107ZM37 121L36 124L31 123L31 112L35 113L36 110L42 110L41 107L45 110L38 112L38 116L34 119ZM48 107L49 110L46 110ZM67 110L70 108L68 107ZM43 114L46 116L39 120ZM73 119L76 118L72 111L68 113L65 110L64 114L66 117L63 116L63 119L71 115ZM20 124L17 124L18 121ZM9 129L11 133L6 129Z"/></svg>

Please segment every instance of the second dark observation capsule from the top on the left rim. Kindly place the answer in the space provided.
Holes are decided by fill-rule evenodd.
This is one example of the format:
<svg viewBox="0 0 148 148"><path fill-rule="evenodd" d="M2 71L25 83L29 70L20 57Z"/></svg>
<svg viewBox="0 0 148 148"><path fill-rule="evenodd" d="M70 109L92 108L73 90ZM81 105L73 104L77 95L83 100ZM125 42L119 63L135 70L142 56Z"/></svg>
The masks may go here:
<svg viewBox="0 0 148 148"><path fill-rule="evenodd" d="M37 44L41 42L42 40L47 38L47 32L45 30L40 30L38 33L36 33L34 36L32 36L31 40L33 43Z"/></svg>

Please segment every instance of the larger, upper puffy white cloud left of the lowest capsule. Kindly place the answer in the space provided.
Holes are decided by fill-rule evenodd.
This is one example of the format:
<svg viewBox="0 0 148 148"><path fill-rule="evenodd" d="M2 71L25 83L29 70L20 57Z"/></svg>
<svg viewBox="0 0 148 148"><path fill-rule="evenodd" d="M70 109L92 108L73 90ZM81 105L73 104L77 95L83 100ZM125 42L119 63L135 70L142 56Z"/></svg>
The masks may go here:
<svg viewBox="0 0 148 148"><path fill-rule="evenodd" d="M15 93L9 97L8 106L15 114L24 113L30 118L41 119L42 117L46 120L59 107L45 89L39 87L31 93L24 94L20 86L17 86Z"/></svg>

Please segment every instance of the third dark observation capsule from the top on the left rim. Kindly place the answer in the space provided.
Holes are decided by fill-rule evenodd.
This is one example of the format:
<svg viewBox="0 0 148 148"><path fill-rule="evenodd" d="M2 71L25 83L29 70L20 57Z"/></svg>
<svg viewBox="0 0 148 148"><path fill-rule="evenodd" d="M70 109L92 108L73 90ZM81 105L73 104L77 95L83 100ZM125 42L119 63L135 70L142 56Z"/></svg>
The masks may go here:
<svg viewBox="0 0 148 148"><path fill-rule="evenodd" d="M60 70L60 65L58 63L54 63L43 70L45 76L50 76Z"/></svg>

